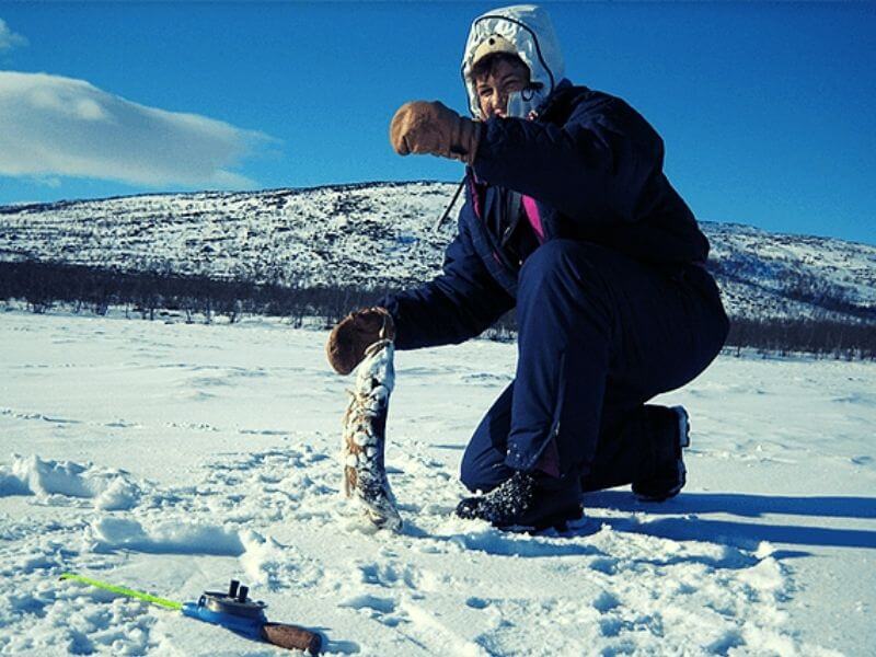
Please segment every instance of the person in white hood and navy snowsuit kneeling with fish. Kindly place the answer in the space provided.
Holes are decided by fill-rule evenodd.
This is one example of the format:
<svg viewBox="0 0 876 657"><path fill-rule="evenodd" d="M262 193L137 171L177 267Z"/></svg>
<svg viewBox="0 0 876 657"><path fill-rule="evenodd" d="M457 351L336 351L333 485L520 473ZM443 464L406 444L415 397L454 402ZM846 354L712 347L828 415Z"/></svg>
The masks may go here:
<svg viewBox="0 0 876 657"><path fill-rule="evenodd" d="M681 491L688 414L646 404L716 357L728 322L708 243L662 172L662 140L624 101L573 85L545 12L474 21L462 61L473 118L403 105L400 154L463 161L465 204L443 272L332 332L350 371L391 322L397 349L464 342L516 310L514 382L462 460L457 514L499 528L562 527L584 491Z"/></svg>

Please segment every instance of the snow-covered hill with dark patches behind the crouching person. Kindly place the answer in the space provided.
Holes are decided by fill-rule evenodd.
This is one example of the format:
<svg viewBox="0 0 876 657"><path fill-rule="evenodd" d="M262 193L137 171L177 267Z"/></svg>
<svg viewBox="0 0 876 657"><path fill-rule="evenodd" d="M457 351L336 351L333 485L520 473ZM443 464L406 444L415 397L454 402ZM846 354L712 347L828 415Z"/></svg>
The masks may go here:
<svg viewBox="0 0 876 657"><path fill-rule="evenodd" d="M405 286L439 269L454 221L438 232L433 224L454 191L450 183L370 183L7 206L0 260L297 286ZM702 226L731 315L876 321L876 246Z"/></svg>

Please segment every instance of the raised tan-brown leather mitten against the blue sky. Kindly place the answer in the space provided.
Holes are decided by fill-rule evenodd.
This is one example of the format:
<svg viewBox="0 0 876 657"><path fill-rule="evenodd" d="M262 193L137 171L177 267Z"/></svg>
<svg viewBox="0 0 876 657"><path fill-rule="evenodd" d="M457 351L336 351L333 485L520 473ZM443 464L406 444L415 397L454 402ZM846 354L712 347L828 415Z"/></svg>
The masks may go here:
<svg viewBox="0 0 876 657"><path fill-rule="evenodd" d="M400 155L430 153L471 164L482 127L438 101L413 101L392 117L390 142Z"/></svg>

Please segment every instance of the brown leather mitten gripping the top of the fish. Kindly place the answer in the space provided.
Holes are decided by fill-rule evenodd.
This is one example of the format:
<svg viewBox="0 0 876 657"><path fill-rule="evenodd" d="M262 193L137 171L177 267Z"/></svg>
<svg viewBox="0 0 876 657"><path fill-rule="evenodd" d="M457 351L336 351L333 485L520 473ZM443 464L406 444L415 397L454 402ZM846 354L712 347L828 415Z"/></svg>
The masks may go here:
<svg viewBox="0 0 876 657"><path fill-rule="evenodd" d="M341 320L325 343L328 365L348 374L365 358L365 350L379 339L394 339L395 324L385 308L361 308Z"/></svg>

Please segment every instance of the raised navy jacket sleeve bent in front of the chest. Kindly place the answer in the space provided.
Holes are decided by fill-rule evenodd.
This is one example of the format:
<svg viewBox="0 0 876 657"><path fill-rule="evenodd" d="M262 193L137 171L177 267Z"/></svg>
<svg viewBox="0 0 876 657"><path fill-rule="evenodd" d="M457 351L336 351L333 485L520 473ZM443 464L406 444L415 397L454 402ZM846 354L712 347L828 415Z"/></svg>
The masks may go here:
<svg viewBox="0 0 876 657"><path fill-rule="evenodd" d="M578 103L562 126L488 119L474 171L573 221L635 221L643 192L662 174L662 161L660 136L625 102L609 97Z"/></svg>

